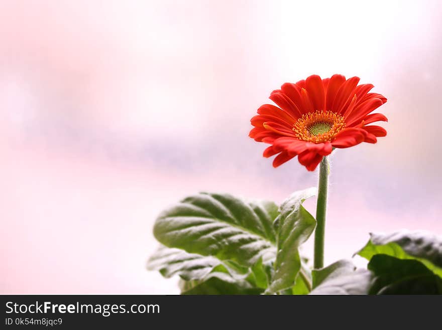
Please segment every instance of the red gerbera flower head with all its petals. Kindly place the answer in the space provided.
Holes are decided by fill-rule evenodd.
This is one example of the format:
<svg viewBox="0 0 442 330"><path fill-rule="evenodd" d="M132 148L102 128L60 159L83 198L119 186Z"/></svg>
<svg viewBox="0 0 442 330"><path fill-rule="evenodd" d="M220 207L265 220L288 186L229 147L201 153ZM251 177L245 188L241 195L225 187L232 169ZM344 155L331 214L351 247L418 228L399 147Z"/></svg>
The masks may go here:
<svg viewBox="0 0 442 330"><path fill-rule="evenodd" d="M376 143L376 137L386 136L387 132L380 126L367 125L387 121L382 114L370 114L387 99L369 93L372 84L358 82L358 77L346 79L340 74L325 79L311 75L296 83L287 82L270 94L280 108L262 105L259 115L251 120L255 128L249 136L271 144L264 157L279 154L273 161L274 167L298 156L309 171L333 148Z"/></svg>

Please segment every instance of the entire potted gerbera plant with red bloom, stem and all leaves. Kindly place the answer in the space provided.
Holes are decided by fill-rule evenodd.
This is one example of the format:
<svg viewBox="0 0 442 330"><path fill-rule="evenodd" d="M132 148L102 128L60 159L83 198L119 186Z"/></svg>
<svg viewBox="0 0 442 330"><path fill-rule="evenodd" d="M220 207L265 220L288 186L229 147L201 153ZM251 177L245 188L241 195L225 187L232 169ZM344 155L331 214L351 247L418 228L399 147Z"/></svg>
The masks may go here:
<svg viewBox="0 0 442 330"><path fill-rule="evenodd" d="M329 164L335 148L376 143L387 118L372 112L387 99L372 84L335 74L284 83L251 120L250 137L270 144L278 167L294 157L308 171L319 165L318 187L295 191L280 205L219 193L184 198L157 218L161 243L148 268L179 275L183 294L442 294L442 239L425 232L371 234L351 261L323 265ZM317 196L316 216L302 205ZM313 265L299 247L314 232Z"/></svg>

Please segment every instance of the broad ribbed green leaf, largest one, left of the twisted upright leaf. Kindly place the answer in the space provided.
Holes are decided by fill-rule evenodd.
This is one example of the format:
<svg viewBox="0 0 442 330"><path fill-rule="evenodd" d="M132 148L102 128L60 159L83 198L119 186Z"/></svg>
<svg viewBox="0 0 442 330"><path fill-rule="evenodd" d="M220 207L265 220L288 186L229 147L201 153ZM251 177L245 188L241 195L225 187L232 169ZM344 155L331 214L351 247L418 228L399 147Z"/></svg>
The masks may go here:
<svg viewBox="0 0 442 330"><path fill-rule="evenodd" d="M272 202L247 202L229 194L200 193L163 211L154 226L156 239L188 253L252 266L274 258Z"/></svg>

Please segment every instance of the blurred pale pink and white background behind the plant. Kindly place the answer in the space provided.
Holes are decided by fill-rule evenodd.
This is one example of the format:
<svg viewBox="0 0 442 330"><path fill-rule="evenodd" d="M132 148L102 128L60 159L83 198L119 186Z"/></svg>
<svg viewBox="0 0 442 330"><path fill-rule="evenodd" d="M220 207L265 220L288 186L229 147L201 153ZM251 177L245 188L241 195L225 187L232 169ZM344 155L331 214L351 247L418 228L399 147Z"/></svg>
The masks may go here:
<svg viewBox="0 0 442 330"><path fill-rule="evenodd" d="M313 73L388 98L388 136L332 156L325 262L369 232L441 234L441 22L438 1L3 0L0 293L178 293L145 270L162 208L316 185L248 138Z"/></svg>

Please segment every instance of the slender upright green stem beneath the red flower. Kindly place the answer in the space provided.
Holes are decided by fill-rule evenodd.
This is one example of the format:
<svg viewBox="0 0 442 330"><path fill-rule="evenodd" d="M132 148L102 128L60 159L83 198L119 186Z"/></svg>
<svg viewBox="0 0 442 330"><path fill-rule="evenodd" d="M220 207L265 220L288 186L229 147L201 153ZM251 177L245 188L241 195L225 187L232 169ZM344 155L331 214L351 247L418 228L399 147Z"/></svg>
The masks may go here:
<svg viewBox="0 0 442 330"><path fill-rule="evenodd" d="M324 233L325 212L327 209L328 160L324 157L319 165L318 195L316 202L316 230L314 232L314 260L315 269L324 267Z"/></svg>

